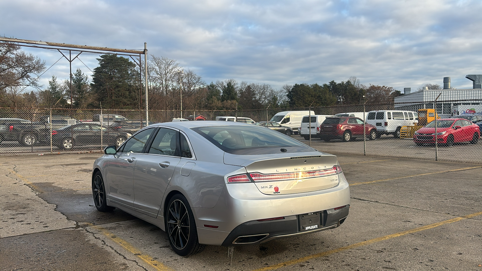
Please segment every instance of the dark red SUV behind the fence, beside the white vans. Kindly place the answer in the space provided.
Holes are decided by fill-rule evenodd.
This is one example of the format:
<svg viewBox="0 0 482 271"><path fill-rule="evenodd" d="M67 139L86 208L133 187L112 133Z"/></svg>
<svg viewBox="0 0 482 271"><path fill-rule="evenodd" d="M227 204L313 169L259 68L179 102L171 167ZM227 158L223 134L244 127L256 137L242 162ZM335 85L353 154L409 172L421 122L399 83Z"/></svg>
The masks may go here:
<svg viewBox="0 0 482 271"><path fill-rule="evenodd" d="M320 127L321 139L330 141L332 139L342 139L350 141L356 137L363 137L363 121L354 117L328 117ZM365 123L365 135L367 139L376 138L375 126Z"/></svg>

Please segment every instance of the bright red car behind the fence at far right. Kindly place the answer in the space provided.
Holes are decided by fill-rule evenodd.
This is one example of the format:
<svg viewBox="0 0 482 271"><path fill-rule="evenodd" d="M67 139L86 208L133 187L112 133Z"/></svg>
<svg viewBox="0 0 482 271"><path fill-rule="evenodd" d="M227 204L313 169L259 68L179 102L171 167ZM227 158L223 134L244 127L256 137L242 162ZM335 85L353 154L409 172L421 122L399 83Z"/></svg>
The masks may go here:
<svg viewBox="0 0 482 271"><path fill-rule="evenodd" d="M435 135L435 124L437 124L437 135ZM479 126L465 119L440 119L437 122L430 122L425 127L415 132L414 142L417 146L425 143L443 143L452 146L455 142L470 142L477 144L479 141Z"/></svg>

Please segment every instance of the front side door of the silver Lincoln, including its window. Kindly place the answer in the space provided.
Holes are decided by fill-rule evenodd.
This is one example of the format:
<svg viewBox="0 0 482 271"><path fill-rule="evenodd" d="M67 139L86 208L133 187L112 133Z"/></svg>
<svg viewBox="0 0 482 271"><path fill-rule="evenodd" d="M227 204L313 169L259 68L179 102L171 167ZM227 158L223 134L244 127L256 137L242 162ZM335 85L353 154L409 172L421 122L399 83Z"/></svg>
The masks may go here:
<svg viewBox="0 0 482 271"><path fill-rule="evenodd" d="M107 162L109 200L134 208L134 166L151 139L155 127L131 136Z"/></svg>

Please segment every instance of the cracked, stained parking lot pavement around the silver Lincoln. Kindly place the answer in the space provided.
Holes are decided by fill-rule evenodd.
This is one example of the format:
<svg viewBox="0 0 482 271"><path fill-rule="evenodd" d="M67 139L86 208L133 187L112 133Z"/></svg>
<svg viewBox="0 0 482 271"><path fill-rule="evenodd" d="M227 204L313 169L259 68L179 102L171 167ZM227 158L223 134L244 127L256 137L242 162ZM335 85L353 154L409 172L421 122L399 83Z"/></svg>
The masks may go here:
<svg viewBox="0 0 482 271"><path fill-rule="evenodd" d="M482 270L480 164L339 154L351 190L339 228L180 257L159 228L96 211L100 155L3 158L0 270Z"/></svg>

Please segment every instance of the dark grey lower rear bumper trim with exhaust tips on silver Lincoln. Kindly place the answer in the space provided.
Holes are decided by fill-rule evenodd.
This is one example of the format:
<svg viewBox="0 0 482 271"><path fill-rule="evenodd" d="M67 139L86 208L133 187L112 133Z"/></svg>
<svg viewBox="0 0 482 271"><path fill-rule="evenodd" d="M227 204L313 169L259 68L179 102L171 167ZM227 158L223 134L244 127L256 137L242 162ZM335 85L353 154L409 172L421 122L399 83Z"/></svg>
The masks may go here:
<svg viewBox="0 0 482 271"><path fill-rule="evenodd" d="M299 226L298 216L284 217L274 221L248 221L232 230L224 240L223 246L243 244L263 244L268 241L333 229L340 226L348 217L349 205L334 210L320 212L321 225L316 230L302 231Z"/></svg>

